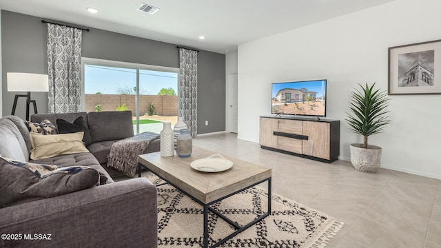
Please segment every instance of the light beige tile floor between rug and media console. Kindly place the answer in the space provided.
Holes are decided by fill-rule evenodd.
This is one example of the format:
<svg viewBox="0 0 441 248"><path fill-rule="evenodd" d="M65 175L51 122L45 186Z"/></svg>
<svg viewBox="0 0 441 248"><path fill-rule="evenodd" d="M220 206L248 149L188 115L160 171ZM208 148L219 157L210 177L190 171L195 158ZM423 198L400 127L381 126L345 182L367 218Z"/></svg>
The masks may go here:
<svg viewBox="0 0 441 248"><path fill-rule="evenodd" d="M389 169L358 172L261 149L236 134L198 136L193 145L272 169L272 190L345 222L328 247L441 247L440 180Z"/></svg>

